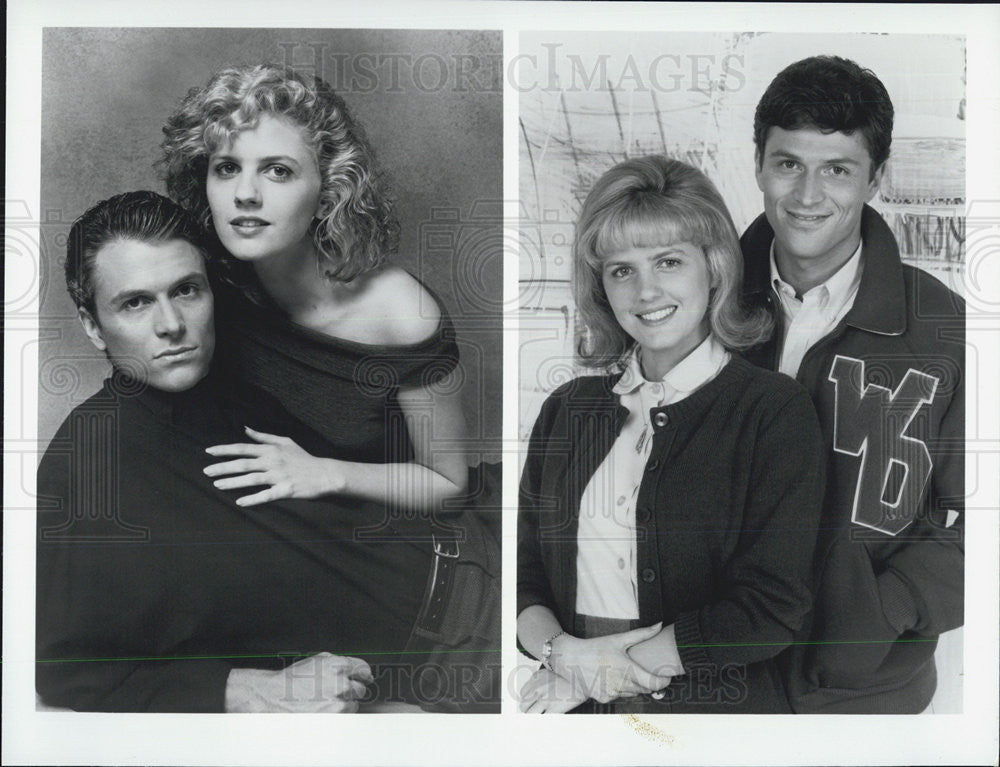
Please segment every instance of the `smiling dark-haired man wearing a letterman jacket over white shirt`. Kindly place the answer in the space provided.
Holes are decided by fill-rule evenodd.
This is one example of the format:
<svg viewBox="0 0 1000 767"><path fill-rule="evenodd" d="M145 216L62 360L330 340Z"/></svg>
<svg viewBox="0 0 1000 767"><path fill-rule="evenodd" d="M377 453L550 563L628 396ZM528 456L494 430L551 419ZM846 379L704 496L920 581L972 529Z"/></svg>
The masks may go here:
<svg viewBox="0 0 1000 767"><path fill-rule="evenodd" d="M923 711L963 621L965 307L867 205L892 122L879 79L833 56L780 72L754 118L744 289L776 331L749 356L806 386L829 448L815 609L783 658L799 713Z"/></svg>

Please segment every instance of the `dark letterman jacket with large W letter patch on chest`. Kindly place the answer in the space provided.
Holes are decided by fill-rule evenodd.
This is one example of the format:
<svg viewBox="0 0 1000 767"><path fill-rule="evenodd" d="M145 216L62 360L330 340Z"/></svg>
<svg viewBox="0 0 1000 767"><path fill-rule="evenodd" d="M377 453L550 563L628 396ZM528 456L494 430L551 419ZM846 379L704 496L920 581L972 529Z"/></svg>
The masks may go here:
<svg viewBox="0 0 1000 767"><path fill-rule="evenodd" d="M802 713L916 713L934 693L940 633L962 625L965 304L900 262L865 207L854 306L806 353L827 450L817 602L781 659ZM775 369L781 313L770 286L774 232L744 233L744 290L779 331L748 357ZM950 510L950 511L949 511Z"/></svg>

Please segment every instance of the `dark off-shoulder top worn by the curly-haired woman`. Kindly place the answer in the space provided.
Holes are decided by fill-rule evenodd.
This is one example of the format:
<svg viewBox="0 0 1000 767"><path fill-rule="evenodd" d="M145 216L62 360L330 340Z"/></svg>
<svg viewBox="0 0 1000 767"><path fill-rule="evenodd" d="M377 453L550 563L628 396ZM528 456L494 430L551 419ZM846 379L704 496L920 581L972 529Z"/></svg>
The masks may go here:
<svg viewBox="0 0 1000 767"><path fill-rule="evenodd" d="M233 375L274 395L326 437L337 450L332 457L365 463L413 459L397 394L401 387L440 381L458 364L454 327L443 307L432 336L385 346L334 338L231 287L213 289L216 354Z"/></svg>

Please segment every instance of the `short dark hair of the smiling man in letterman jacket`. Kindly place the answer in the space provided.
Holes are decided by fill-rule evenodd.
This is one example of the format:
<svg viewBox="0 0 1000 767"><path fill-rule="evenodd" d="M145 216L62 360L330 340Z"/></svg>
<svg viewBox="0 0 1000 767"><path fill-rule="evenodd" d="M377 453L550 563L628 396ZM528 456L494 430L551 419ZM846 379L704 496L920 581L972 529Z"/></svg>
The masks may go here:
<svg viewBox="0 0 1000 767"><path fill-rule="evenodd" d="M778 73L764 91L753 118L757 165L771 128L813 127L824 133L861 131L874 175L889 159L892 101L882 81L839 56L812 56Z"/></svg>

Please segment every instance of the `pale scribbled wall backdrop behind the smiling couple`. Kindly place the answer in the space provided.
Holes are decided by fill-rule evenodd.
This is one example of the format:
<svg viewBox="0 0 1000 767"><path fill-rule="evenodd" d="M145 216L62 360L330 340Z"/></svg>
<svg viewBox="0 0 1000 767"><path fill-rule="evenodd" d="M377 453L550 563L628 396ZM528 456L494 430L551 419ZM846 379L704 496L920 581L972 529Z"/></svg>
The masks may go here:
<svg viewBox="0 0 1000 767"><path fill-rule="evenodd" d="M764 207L754 111L774 76L807 56L853 59L886 86L893 141L871 205L905 263L964 294L965 38L524 32L518 53L522 444L546 396L586 372L573 354L570 274L574 223L593 183L628 158L666 154L712 179L742 234ZM934 713L962 711L962 641L957 629L939 642Z"/></svg>

